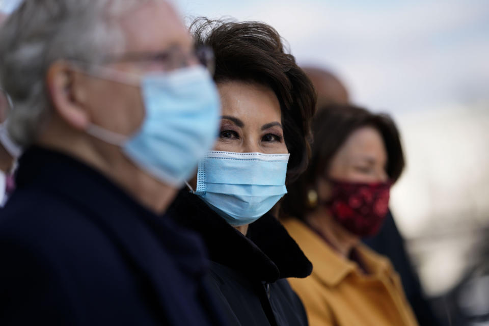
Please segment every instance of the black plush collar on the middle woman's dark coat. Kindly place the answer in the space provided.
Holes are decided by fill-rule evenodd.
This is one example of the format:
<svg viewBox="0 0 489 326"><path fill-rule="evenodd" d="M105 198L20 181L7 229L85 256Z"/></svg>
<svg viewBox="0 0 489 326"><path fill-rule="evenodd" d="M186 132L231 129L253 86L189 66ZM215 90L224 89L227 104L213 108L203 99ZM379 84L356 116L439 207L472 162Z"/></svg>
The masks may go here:
<svg viewBox="0 0 489 326"><path fill-rule="evenodd" d="M230 226L198 196L185 190L180 192L168 213L202 236L212 261L247 277L275 282L280 278L304 278L311 274L311 262L269 213L250 224L247 236Z"/></svg>

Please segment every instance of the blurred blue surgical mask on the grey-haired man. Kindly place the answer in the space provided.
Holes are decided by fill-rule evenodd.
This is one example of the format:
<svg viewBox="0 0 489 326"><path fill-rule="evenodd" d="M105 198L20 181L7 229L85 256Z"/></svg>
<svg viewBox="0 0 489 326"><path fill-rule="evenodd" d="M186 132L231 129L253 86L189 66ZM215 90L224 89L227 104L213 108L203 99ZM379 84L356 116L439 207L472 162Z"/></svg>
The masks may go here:
<svg viewBox="0 0 489 326"><path fill-rule="evenodd" d="M101 78L134 84L120 74ZM146 110L140 129L127 137L90 125L94 137L122 147L131 161L155 178L179 187L190 178L199 159L218 134L221 105L208 71L192 66L143 75L138 83Z"/></svg>

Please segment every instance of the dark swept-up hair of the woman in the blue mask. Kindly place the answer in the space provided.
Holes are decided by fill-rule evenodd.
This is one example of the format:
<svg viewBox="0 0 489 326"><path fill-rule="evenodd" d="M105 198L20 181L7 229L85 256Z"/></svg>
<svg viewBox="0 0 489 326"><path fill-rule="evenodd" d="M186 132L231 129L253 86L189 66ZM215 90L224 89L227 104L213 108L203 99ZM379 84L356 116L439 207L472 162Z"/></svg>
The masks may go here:
<svg viewBox="0 0 489 326"><path fill-rule="evenodd" d="M310 121L315 111L314 87L286 53L282 39L271 26L257 21L222 21L200 17L190 30L196 46L214 51L217 84L231 80L264 85L280 102L284 140L290 152L287 182L308 165Z"/></svg>

